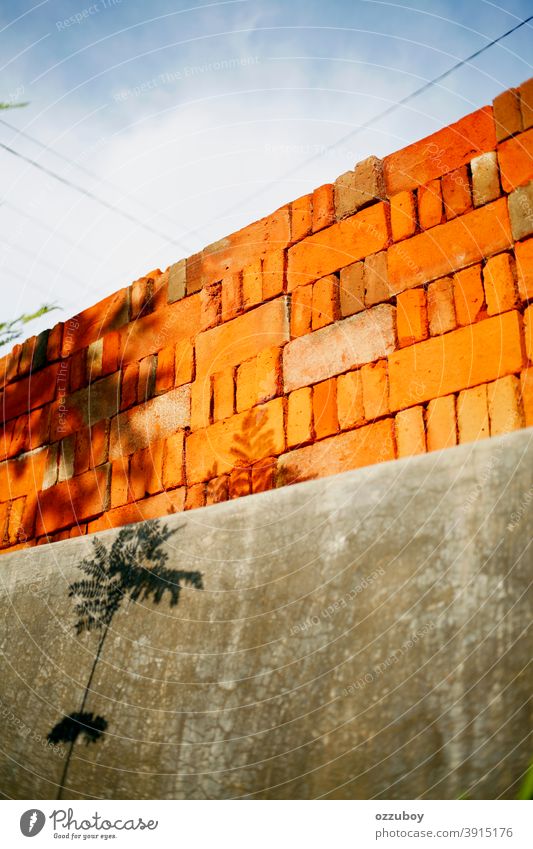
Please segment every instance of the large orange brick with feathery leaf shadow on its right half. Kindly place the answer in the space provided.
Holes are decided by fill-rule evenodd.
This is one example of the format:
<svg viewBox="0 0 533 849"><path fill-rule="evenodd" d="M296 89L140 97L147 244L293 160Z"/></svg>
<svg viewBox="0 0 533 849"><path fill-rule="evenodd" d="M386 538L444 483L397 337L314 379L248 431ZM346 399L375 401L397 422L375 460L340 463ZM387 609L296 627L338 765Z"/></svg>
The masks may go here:
<svg viewBox="0 0 533 849"><path fill-rule="evenodd" d="M188 484L231 472L285 447L283 399L238 413L189 436L186 444Z"/></svg>

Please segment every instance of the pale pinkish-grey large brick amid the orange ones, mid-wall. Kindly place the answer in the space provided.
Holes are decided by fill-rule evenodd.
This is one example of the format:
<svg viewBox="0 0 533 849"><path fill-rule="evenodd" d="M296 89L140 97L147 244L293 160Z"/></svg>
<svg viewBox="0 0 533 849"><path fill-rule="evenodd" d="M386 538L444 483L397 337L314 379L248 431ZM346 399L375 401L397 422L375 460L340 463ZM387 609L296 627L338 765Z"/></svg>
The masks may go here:
<svg viewBox="0 0 533 849"><path fill-rule="evenodd" d="M390 354L395 347L395 308L388 304L342 319L283 349L285 391L342 374Z"/></svg>

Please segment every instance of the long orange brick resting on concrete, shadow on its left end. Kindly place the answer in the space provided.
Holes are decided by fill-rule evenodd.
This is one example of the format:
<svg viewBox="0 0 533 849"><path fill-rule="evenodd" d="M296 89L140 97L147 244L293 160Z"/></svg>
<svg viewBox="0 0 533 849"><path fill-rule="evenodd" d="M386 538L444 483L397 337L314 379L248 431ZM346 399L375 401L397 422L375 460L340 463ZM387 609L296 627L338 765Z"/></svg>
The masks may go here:
<svg viewBox="0 0 533 849"><path fill-rule="evenodd" d="M293 483L393 460L394 456L393 422L383 419L283 454L278 459L278 475L284 483Z"/></svg>

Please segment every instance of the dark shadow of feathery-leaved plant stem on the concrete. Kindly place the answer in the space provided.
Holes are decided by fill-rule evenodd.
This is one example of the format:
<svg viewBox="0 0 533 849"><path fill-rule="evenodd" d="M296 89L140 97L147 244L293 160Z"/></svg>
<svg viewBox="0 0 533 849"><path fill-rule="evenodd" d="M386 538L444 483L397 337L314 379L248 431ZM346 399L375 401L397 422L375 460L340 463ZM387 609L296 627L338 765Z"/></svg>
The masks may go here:
<svg viewBox="0 0 533 849"><path fill-rule="evenodd" d="M85 557L79 565L87 577L69 586L77 614L76 633L99 631L100 639L79 710L64 715L48 733L50 743L69 744L58 799L65 787L76 741L81 737L86 743L94 743L108 727L105 717L87 711L86 704L110 625L121 605L125 601L159 604L168 596L170 606L175 607L184 586L203 589L201 572L166 565L168 551L163 545L179 530L152 519L121 528L109 548L95 537L92 556Z"/></svg>

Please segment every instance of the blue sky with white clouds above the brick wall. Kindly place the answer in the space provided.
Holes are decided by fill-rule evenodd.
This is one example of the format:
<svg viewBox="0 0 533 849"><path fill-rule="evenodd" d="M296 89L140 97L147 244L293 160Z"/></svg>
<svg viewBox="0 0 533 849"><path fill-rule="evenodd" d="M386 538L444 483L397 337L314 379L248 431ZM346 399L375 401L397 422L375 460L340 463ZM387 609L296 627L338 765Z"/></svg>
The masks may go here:
<svg viewBox="0 0 533 849"><path fill-rule="evenodd" d="M531 25L339 143L531 14L524 0L4 0L0 99L29 105L0 113L0 142L156 232L0 150L2 317L55 301L66 318L490 103L532 76Z"/></svg>

